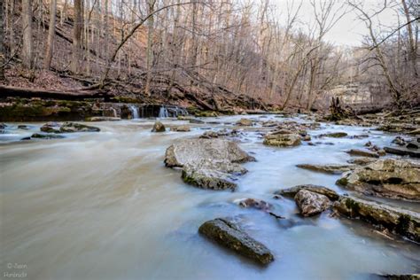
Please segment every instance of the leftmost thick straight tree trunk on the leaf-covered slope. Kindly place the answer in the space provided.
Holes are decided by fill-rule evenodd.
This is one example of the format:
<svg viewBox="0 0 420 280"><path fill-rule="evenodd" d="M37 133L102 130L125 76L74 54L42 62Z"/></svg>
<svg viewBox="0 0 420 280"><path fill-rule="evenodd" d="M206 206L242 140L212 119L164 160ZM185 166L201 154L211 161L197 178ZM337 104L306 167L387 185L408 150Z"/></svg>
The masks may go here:
<svg viewBox="0 0 420 280"><path fill-rule="evenodd" d="M32 0L22 0L22 62L27 69L34 66L34 43L32 38Z"/></svg>

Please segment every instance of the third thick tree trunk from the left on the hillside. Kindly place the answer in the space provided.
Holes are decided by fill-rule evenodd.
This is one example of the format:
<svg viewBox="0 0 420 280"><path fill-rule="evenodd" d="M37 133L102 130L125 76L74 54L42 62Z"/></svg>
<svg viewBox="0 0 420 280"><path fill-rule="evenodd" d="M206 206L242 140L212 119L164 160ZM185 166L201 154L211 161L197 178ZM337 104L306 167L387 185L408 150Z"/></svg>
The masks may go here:
<svg viewBox="0 0 420 280"><path fill-rule="evenodd" d="M80 73L80 58L82 49L82 0L74 0L73 57L71 70Z"/></svg>

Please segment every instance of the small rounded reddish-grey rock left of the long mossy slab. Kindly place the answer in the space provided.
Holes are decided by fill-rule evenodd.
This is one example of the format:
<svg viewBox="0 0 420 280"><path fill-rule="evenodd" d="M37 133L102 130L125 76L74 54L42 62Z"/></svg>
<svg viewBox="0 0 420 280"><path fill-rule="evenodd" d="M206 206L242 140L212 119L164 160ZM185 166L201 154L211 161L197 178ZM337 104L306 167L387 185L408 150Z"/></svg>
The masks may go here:
<svg viewBox="0 0 420 280"><path fill-rule="evenodd" d="M330 206L330 199L326 196L307 190L298 191L294 200L304 217L320 214Z"/></svg>

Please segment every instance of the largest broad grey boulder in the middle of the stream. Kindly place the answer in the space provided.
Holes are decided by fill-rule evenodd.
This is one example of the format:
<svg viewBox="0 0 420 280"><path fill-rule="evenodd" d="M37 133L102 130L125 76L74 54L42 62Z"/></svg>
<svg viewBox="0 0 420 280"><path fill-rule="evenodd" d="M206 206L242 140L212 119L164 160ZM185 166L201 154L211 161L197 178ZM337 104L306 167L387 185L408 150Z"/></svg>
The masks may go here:
<svg viewBox="0 0 420 280"><path fill-rule="evenodd" d="M210 190L235 190L239 163L255 160L236 143L222 139L183 139L167 148L165 165L183 167L183 181Z"/></svg>

